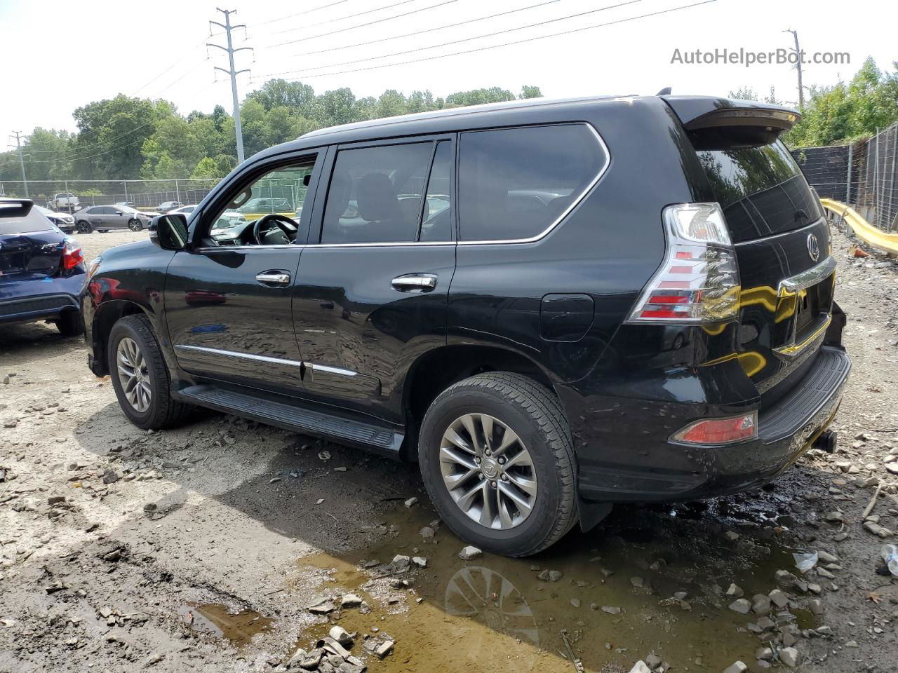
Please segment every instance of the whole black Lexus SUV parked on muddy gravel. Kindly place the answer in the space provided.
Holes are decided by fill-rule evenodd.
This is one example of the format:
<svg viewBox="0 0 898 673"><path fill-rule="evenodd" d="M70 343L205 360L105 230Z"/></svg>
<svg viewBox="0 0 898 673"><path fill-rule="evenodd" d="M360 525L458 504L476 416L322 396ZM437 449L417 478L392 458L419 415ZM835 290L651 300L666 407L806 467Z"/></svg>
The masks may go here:
<svg viewBox="0 0 898 673"><path fill-rule="evenodd" d="M850 370L796 119L587 98L304 135L102 254L90 367L141 428L198 405L417 460L499 554L762 485L832 447ZM295 218L214 228L271 188Z"/></svg>

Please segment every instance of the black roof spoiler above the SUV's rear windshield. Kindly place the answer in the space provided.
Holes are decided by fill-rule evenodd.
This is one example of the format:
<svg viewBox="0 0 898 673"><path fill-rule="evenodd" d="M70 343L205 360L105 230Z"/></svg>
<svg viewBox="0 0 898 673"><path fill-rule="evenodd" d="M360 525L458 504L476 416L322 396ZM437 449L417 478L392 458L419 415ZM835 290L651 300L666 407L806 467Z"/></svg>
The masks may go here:
<svg viewBox="0 0 898 673"><path fill-rule="evenodd" d="M794 109L757 101L731 101L707 96L662 96L687 131L719 127L763 127L779 135L801 118Z"/></svg>

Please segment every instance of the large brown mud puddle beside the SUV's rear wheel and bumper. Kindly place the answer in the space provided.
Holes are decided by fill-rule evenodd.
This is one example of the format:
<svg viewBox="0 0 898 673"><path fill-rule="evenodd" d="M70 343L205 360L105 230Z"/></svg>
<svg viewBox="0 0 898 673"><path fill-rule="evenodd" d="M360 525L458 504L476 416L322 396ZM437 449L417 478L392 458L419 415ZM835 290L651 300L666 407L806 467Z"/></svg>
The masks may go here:
<svg viewBox="0 0 898 673"><path fill-rule="evenodd" d="M300 572L324 573L321 593L338 607L297 646L309 649L341 625L357 632L353 653L378 672L569 672L576 667L568 652L591 671L626 671L649 653L679 670L721 670L735 660L753 669L773 628L794 630L797 615L801 627L814 626L804 611L774 607L762 633L761 616L728 607L731 583L751 600L776 588L777 570L797 573L770 503L622 507L599 529L572 531L541 555L467 562L458 556L464 543L445 526L436 538L421 537L434 518L428 506L400 506L381 544L301 559ZM427 567L391 572L394 555L426 557ZM366 606L340 610L347 592ZM365 657L365 642L385 638L396 642L390 656Z"/></svg>

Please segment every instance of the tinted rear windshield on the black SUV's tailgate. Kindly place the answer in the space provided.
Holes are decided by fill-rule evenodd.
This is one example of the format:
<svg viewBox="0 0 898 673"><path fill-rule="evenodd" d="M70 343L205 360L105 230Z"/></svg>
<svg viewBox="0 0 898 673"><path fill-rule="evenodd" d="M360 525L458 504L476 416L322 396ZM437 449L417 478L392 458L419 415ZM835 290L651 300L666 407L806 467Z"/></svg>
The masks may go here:
<svg viewBox="0 0 898 673"><path fill-rule="evenodd" d="M757 147L703 147L697 154L734 242L788 232L823 216L779 140Z"/></svg>

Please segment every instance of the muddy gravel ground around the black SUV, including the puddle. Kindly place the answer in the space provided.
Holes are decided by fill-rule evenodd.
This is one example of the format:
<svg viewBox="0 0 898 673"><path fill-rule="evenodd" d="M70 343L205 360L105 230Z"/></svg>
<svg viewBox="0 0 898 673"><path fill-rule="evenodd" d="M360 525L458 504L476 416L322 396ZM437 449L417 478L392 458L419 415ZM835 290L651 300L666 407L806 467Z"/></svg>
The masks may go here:
<svg viewBox="0 0 898 673"><path fill-rule="evenodd" d="M90 259L145 235L79 239ZM3 328L0 671L308 670L331 625L358 659L325 651L325 673L895 670L898 582L876 571L898 544L898 265L851 243L837 453L751 494L619 508L531 559L460 559L414 466L211 412L138 431L82 340Z"/></svg>

